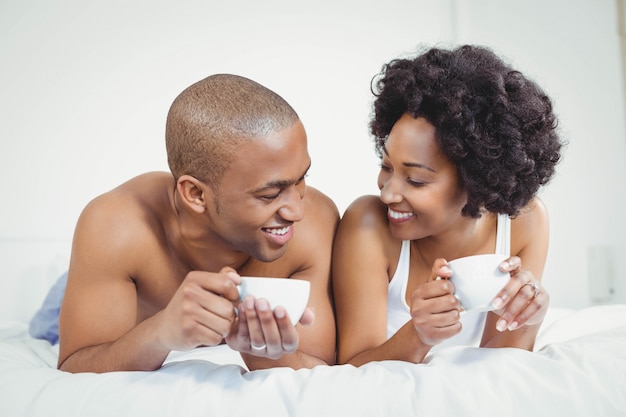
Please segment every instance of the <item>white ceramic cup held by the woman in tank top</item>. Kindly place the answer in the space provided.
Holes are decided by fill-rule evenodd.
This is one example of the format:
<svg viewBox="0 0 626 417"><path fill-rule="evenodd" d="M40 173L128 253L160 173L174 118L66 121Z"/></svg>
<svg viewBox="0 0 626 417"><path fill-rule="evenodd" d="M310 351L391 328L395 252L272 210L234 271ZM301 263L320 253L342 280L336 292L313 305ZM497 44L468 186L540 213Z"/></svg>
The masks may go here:
<svg viewBox="0 0 626 417"><path fill-rule="evenodd" d="M452 269L450 281L454 284L454 295L465 311L490 311L498 292L509 281L510 274L500 271L500 264L508 256L484 254L466 256L448 262Z"/></svg>

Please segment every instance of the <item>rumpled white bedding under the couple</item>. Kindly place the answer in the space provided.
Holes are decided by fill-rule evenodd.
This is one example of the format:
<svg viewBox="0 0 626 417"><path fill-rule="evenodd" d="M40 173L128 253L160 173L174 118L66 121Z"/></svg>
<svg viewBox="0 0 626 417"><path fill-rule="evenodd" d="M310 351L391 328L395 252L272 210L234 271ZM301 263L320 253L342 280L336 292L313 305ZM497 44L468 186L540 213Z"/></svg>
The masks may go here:
<svg viewBox="0 0 626 417"><path fill-rule="evenodd" d="M535 352L457 347L421 365L249 372L220 346L73 375L56 357L0 321L0 416L626 416L626 305L551 310Z"/></svg>

